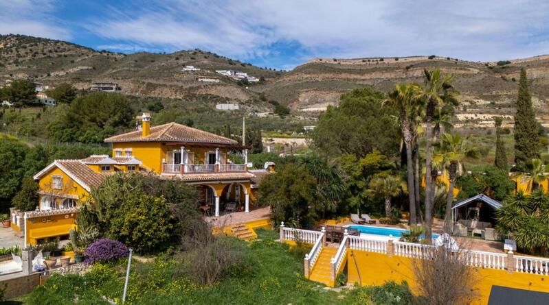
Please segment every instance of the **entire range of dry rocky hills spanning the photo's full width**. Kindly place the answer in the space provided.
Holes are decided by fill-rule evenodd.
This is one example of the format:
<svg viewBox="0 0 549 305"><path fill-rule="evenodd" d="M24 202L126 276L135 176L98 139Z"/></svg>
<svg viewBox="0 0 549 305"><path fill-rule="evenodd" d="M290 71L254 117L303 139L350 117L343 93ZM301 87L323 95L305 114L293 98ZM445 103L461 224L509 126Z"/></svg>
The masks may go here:
<svg viewBox="0 0 549 305"><path fill-rule="evenodd" d="M181 71L192 65L200 71ZM89 88L93 82L116 82L122 93L150 97L185 98L216 95L227 101L268 110L263 93L309 117L339 95L361 86L390 90L400 82L423 82L423 69L440 68L456 75L462 94L456 127L489 127L492 117L512 123L519 69L525 67L532 80L532 93L540 121L549 126L549 56L502 62L468 62L456 58L415 56L407 58L316 58L293 71L282 73L238 62L214 53L190 50L170 54L112 53L69 42L21 35L0 36L0 85L14 78L30 78L55 86L69 82ZM238 86L235 80L215 70L236 70L265 79L263 84ZM200 79L215 80L201 82ZM218 82L219 81L219 82Z"/></svg>

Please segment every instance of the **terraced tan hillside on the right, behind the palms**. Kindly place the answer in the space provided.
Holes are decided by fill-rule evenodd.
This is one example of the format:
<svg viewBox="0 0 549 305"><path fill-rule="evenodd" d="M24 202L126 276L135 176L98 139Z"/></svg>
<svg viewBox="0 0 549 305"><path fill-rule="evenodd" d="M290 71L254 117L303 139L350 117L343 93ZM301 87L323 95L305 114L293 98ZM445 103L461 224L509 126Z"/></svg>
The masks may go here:
<svg viewBox="0 0 549 305"><path fill-rule="evenodd" d="M492 127L495 115L512 124L519 71L525 67L532 80L537 115L549 126L549 56L508 62L467 62L454 58L415 56L408 58L360 58L310 60L259 89L271 99L297 110L319 111L335 105L339 95L360 86L390 90L401 82L422 83L423 69L440 68L456 75L462 95L456 127Z"/></svg>

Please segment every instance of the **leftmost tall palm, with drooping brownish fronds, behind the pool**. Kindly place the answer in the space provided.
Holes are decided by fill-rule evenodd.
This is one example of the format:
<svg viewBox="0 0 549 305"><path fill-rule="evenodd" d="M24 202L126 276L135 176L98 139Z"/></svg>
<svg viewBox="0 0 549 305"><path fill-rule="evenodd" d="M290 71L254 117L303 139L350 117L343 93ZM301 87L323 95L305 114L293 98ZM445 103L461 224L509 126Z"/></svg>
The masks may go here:
<svg viewBox="0 0 549 305"><path fill-rule="evenodd" d="M406 147L407 184L410 190L415 189L412 149L416 138L416 130L412 124L418 113L421 93L421 87L418 84L400 84L388 93L388 98L383 102L384 105L390 106L399 112L399 125ZM417 223L417 203L413 191L408 193L408 200L410 202L410 224L415 225Z"/></svg>

